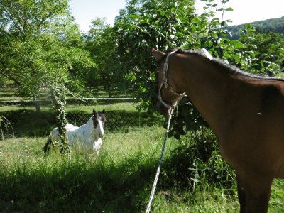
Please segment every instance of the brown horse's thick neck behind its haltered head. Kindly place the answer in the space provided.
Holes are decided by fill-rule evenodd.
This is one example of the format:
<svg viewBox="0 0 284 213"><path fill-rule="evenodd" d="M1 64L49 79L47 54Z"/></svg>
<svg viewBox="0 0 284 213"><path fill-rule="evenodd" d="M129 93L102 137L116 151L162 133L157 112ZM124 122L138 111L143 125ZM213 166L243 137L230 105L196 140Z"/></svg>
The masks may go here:
<svg viewBox="0 0 284 213"><path fill-rule="evenodd" d="M175 82L180 76L180 91L187 96L200 111L214 131L219 131L220 119L224 119L226 98L230 95L228 84L233 81L226 72L212 66L206 58L189 55L189 59L176 61Z"/></svg>

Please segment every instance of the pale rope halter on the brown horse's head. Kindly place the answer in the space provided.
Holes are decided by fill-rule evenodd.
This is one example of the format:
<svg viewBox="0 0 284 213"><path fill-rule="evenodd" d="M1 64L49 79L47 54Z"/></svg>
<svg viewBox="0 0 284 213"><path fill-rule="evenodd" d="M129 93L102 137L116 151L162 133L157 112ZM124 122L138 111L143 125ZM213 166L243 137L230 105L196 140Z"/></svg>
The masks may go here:
<svg viewBox="0 0 284 213"><path fill-rule="evenodd" d="M170 55L172 55L173 53L175 53L177 50L174 50L173 52L170 52L167 55L167 58L165 58L165 63L164 63L164 67L163 67L163 81L160 84L159 87L159 91L158 91L158 99L159 101L167 108L169 109L175 109L176 105L178 104L178 102L180 101L180 99L182 99L183 97L186 96L185 92L183 93L177 93L175 91L173 91L173 88L169 86L168 84L168 79L167 79L167 71L168 71L168 58L170 57ZM168 92L170 92L171 94L177 96L178 98L176 99L175 102L173 102L172 104L168 104L167 102L165 102L162 98L161 95L161 90L163 88L163 86L165 85L165 89L168 89Z"/></svg>

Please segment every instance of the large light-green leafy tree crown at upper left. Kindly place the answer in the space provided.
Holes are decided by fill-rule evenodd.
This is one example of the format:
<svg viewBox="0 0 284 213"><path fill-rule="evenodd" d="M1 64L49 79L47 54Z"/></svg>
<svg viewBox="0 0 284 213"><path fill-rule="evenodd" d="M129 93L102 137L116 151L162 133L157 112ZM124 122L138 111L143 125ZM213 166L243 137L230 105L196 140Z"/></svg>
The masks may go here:
<svg viewBox="0 0 284 213"><path fill-rule="evenodd" d="M72 86L78 67L92 64L68 10L67 0L0 0L0 76L22 97L36 98L58 80Z"/></svg>

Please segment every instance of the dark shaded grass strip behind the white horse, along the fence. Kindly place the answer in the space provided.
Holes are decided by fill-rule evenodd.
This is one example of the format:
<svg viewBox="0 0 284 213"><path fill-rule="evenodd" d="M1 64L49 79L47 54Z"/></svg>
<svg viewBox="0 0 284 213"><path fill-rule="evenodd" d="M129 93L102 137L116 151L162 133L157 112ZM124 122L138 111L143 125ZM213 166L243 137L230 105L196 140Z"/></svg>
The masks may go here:
<svg viewBox="0 0 284 213"><path fill-rule="evenodd" d="M32 109L18 109L6 111L4 116L11 122L14 136L43 137L48 136L50 131L57 126L56 114L53 110L42 110L36 113ZM87 123L92 114L85 111L71 110L67 113L70 124L80 126ZM114 110L107 111L105 131L110 133L126 133L135 128L163 124L161 116L149 115L146 112ZM9 133L12 133L11 127Z"/></svg>

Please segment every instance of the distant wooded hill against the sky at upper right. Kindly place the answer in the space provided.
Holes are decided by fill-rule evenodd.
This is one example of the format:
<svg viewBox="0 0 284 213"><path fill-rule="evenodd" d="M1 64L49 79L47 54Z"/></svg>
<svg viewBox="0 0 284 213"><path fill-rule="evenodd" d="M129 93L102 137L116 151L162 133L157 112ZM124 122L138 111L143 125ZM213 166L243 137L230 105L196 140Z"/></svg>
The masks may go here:
<svg viewBox="0 0 284 213"><path fill-rule="evenodd" d="M271 18L263 21L254 21L251 23L256 29L261 31L274 31L276 33L284 34L284 16L281 18ZM226 29L231 31L233 39L239 38L239 30L244 29L244 24L227 26Z"/></svg>

